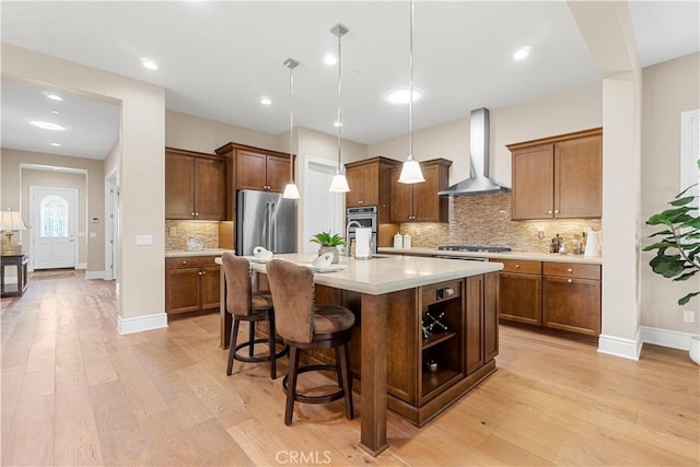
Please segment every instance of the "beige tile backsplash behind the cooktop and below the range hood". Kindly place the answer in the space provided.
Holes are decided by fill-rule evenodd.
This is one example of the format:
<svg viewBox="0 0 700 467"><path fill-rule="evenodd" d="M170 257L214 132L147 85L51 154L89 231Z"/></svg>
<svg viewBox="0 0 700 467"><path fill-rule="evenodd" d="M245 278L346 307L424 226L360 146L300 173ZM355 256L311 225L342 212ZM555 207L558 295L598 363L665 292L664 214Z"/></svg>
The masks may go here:
<svg viewBox="0 0 700 467"><path fill-rule="evenodd" d="M450 198L450 222L405 223L401 233L411 235L415 247L440 245L509 246L516 252L549 253L551 238L559 234L570 252L574 236L591 227L600 230L600 219L511 220L511 194ZM545 237L537 237L538 229Z"/></svg>

